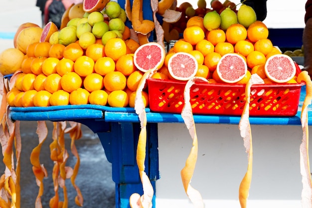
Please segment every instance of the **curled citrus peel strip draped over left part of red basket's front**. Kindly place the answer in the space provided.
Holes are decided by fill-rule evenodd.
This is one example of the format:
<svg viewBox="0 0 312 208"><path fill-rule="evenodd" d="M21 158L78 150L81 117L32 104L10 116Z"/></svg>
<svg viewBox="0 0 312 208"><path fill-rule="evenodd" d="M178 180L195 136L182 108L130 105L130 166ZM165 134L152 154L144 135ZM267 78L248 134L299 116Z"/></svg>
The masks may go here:
<svg viewBox="0 0 312 208"><path fill-rule="evenodd" d="M193 176L195 165L198 154L198 142L195 130L195 122L192 113L192 107L190 104L190 88L195 82L208 82L207 79L201 77L193 77L189 79L184 88L184 106L181 112L181 116L184 120L185 126L187 127L189 134L193 140L190 154L188 155L185 163L185 167L181 170L181 179L185 193L187 194L190 201L193 203L195 208L203 208L204 203L200 193L195 190L191 185L190 181Z"/></svg>

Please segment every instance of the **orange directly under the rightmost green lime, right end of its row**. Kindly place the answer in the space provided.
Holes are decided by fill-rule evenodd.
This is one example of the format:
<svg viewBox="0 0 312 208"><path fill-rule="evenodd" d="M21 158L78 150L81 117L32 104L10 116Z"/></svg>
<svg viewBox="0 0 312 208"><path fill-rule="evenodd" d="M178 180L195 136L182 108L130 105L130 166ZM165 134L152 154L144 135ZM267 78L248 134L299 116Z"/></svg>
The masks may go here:
<svg viewBox="0 0 312 208"><path fill-rule="evenodd" d="M268 27L262 21L255 21L249 25L247 29L247 37L252 42L257 42L261 39L266 39L269 36Z"/></svg>

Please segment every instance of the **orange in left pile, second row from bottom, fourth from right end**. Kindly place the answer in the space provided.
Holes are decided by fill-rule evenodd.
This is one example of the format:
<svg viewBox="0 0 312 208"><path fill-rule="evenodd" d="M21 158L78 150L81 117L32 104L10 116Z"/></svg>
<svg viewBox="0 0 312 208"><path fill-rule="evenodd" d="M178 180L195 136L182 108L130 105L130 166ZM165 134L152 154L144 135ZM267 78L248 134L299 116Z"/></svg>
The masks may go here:
<svg viewBox="0 0 312 208"><path fill-rule="evenodd" d="M72 92L82 86L82 79L76 72L68 72L61 78L61 87L66 92Z"/></svg>

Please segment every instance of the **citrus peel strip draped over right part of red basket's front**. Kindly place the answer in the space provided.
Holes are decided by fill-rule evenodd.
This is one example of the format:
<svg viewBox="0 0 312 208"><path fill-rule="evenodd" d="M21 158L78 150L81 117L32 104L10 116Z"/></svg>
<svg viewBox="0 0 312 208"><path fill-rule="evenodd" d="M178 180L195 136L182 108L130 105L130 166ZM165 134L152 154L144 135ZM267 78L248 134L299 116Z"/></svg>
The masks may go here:
<svg viewBox="0 0 312 208"><path fill-rule="evenodd" d="M241 208L246 208L247 206L247 198L249 195L249 189L252 178L253 147L252 147L251 127L249 123L249 105L250 105L250 94L253 93L251 92L251 87L253 84L264 84L264 81L258 74L251 75L250 80L246 84L245 88L246 103L238 126L241 137L244 139L244 147L246 148L246 153L248 154L247 172L239 186L239 203L241 205ZM263 91L260 91L259 93L263 93Z"/></svg>

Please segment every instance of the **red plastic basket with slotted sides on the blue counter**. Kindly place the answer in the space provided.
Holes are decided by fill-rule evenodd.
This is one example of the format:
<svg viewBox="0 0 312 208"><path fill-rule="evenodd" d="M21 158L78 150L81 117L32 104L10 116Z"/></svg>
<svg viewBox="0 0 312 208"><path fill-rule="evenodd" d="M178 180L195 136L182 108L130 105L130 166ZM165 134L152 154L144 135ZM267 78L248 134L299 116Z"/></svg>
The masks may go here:
<svg viewBox="0 0 312 208"><path fill-rule="evenodd" d="M150 109L155 112L181 113L186 82L148 79ZM251 88L251 116L294 116L298 111L304 83L257 84ZM244 84L195 83L190 90L194 114L242 115L245 105Z"/></svg>

